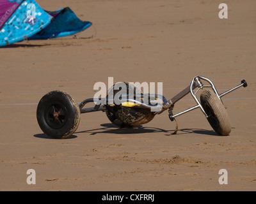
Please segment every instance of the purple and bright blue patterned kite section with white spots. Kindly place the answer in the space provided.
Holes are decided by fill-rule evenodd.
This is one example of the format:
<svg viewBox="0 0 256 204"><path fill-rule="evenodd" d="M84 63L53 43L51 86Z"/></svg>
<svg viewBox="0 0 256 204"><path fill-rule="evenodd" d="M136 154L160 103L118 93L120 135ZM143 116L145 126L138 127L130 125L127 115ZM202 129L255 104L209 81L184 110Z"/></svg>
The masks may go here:
<svg viewBox="0 0 256 204"><path fill-rule="evenodd" d="M34 0L0 0L0 46L28 39L52 18Z"/></svg>

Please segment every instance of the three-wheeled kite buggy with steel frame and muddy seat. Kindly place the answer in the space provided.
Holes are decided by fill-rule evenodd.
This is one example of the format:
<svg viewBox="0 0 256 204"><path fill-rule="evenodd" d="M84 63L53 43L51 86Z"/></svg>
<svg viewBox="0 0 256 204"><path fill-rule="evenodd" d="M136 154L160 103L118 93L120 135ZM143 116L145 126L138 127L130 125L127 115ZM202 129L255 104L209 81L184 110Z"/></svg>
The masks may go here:
<svg viewBox="0 0 256 204"><path fill-rule="evenodd" d="M202 84L202 82L207 82L207 85ZM222 94L218 94L211 80L198 76L193 78L191 84L186 89L179 92L172 99L167 100L159 94L154 94L154 96L152 94L142 94L137 87L127 82L124 83L126 85L125 92L129 92L129 97L128 94L125 98L118 97L117 102L119 103L116 103L116 100L114 101L113 98L115 98L116 94L120 94L120 90L115 90L113 87L111 87L113 89L113 96L106 96L104 99L85 99L79 105L72 96L63 91L51 91L45 94L38 103L36 110L36 117L40 128L45 135L51 138L63 139L68 138L68 136L71 136L76 131L79 126L81 113L102 111L106 113L108 119L116 126L120 128L132 128L132 126L150 122L157 114L163 113L165 110L168 110L169 119L173 121L179 115L200 108L218 135L228 135L231 131L230 119L221 101L221 97L239 87L247 86L246 81L242 80L241 84L236 87ZM194 92L195 89L197 90ZM198 99L196 94L201 89L204 90L201 91L200 99ZM175 103L189 93L195 99L196 105L180 113L173 114ZM161 100L161 104L153 103L156 100ZM93 106L84 108L88 103L93 103ZM176 132L177 126L175 129Z"/></svg>

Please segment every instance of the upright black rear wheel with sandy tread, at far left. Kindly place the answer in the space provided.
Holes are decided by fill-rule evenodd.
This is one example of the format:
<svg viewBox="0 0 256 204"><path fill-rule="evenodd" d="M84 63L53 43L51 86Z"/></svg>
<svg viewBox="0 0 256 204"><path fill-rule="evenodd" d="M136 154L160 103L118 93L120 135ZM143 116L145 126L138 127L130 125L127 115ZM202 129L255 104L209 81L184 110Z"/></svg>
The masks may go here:
<svg viewBox="0 0 256 204"><path fill-rule="evenodd" d="M51 91L38 103L36 118L45 135L64 139L71 136L79 126L80 109L66 92Z"/></svg>

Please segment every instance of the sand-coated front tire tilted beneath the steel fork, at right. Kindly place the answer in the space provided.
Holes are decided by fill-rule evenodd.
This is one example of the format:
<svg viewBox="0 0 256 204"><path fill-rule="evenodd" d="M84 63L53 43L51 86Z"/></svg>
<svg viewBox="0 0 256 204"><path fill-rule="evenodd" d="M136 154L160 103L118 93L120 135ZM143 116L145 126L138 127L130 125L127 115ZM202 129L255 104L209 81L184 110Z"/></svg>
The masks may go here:
<svg viewBox="0 0 256 204"><path fill-rule="evenodd" d="M207 120L218 135L228 135L231 131L227 110L218 96L211 90L200 95L201 104L209 117Z"/></svg>

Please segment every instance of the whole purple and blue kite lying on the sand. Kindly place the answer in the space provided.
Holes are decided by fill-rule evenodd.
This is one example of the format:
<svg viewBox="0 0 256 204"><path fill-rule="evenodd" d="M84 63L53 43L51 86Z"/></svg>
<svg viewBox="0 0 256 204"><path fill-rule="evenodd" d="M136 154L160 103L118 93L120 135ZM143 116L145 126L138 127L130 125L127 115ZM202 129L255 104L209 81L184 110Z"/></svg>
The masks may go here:
<svg viewBox="0 0 256 204"><path fill-rule="evenodd" d="M45 11L35 0L0 0L0 47L22 40L76 34L92 22L81 21L70 8Z"/></svg>

